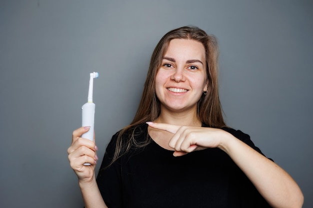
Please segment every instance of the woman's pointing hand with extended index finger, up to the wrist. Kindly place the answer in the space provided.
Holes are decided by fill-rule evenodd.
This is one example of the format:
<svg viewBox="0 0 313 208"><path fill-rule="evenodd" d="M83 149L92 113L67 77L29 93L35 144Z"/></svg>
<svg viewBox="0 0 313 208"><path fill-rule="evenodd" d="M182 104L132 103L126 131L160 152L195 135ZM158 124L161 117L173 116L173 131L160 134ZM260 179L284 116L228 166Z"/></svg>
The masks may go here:
<svg viewBox="0 0 313 208"><path fill-rule="evenodd" d="M147 122L147 124L154 129L174 134L168 143L169 147L175 150L174 156L182 156L195 150L219 147L221 140L228 134L216 128L178 126L153 122Z"/></svg>

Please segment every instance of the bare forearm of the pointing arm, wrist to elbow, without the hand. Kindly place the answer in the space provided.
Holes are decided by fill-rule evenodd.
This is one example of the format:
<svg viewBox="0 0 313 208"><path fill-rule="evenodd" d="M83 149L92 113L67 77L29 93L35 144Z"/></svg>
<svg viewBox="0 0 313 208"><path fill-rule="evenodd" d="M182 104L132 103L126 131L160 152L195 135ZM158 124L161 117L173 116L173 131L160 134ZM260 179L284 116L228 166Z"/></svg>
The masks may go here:
<svg viewBox="0 0 313 208"><path fill-rule="evenodd" d="M218 148L229 155L270 206L302 207L302 192L289 174L228 132L220 133Z"/></svg>

